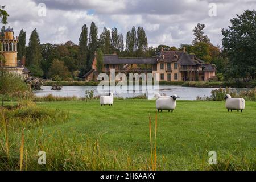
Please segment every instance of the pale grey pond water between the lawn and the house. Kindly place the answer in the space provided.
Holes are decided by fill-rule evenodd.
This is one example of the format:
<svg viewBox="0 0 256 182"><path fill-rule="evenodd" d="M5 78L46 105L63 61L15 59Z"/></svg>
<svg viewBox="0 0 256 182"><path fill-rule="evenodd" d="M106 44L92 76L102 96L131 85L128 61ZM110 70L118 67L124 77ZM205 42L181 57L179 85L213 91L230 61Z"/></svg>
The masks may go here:
<svg viewBox="0 0 256 182"><path fill-rule="evenodd" d="M36 96L46 96L52 94L53 96L77 96L84 97L85 90L94 90L94 96L101 95L97 92L97 86L63 86L62 90L51 90L51 86L42 86L42 90L35 91ZM183 87L174 85L159 85L159 93L166 96L177 94L180 96L180 100L196 100L197 96L204 97L210 96L210 92L217 88L194 88ZM246 89L237 89L237 91ZM146 93L146 90L142 90L142 93L114 93L114 97L131 98Z"/></svg>

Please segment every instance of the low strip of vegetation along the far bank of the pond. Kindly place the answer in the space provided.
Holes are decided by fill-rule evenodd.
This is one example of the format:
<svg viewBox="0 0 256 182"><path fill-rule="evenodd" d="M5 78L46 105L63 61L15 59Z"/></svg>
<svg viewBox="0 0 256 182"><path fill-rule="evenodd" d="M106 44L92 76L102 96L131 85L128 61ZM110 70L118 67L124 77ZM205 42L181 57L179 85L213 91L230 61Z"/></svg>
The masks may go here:
<svg viewBox="0 0 256 182"><path fill-rule="evenodd" d="M52 85L61 86L98 86L99 82L86 82L86 81L44 81L43 86ZM117 84L117 82L115 82ZM154 82L152 82L154 84ZM256 81L250 82L228 82L228 81L159 81L159 85L180 85L184 87L197 87L197 88L255 88Z"/></svg>

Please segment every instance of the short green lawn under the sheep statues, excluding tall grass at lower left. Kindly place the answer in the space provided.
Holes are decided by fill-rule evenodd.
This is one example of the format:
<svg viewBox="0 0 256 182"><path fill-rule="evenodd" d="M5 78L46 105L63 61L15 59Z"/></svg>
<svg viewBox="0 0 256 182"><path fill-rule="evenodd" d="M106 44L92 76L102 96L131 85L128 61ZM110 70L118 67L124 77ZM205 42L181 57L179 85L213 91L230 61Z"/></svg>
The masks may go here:
<svg viewBox="0 0 256 182"><path fill-rule="evenodd" d="M106 156L116 154L114 158L117 158L114 167L103 169L150 169L147 168L151 163L148 117L151 116L154 126L154 100L115 100L113 106L100 106L98 100L38 102L37 105L40 109L68 111L70 119L68 122L43 126L43 130L34 127L25 131L25 136L30 136L25 142L28 146L32 146L32 138L39 135L44 136L43 142L53 142L54 136L58 138L61 135L61 141L68 143L71 140L76 146L85 143L85 139L96 140ZM158 113L157 169L255 170L256 102L246 102L243 113L234 110L228 113L224 105L224 102L178 100L174 113ZM19 141L18 138L17 143L20 143ZM68 146L69 144L67 148ZM40 148L40 145L38 147ZM65 150L68 149L63 149L64 154ZM209 151L217 152L217 165L208 164ZM53 158L51 154L47 157ZM122 166L124 163L126 167ZM142 163L144 167L141 167ZM67 168L61 166L57 169Z"/></svg>

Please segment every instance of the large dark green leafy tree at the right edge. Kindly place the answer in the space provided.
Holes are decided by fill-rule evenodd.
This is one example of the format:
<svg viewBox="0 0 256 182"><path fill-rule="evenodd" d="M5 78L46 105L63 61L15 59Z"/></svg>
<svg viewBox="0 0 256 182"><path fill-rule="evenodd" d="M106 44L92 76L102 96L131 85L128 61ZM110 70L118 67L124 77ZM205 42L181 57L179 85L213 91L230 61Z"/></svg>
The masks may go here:
<svg viewBox="0 0 256 182"><path fill-rule="evenodd" d="M231 26L222 29L222 46L229 63L225 74L232 78L256 76L256 11L246 10L230 20ZM230 74L229 74L230 73Z"/></svg>

